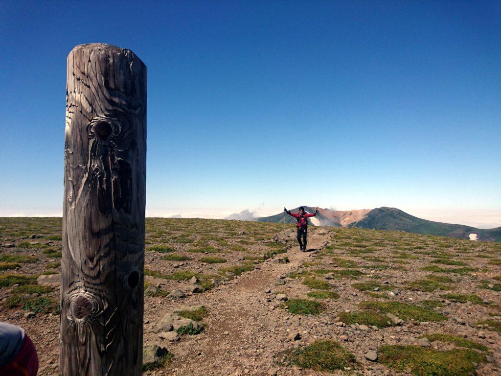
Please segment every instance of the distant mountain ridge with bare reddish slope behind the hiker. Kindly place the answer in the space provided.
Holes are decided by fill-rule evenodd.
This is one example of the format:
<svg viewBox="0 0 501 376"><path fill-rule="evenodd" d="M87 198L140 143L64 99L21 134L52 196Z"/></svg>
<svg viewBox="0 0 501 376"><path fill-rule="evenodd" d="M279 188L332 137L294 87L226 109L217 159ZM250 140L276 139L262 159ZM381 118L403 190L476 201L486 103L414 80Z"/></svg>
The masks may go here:
<svg viewBox="0 0 501 376"><path fill-rule="evenodd" d="M305 211L314 213L315 207L304 206ZM297 213L298 208L292 209ZM284 213L256 219L258 222L296 223L296 219ZM311 224L333 227L356 227L362 229L404 231L408 233L450 236L459 239L469 239L470 234L476 234L477 240L487 242L501 241L501 227L494 229L477 229L466 225L434 222L411 216L396 208L381 207L376 209L336 211L319 208L319 215L311 218Z"/></svg>

